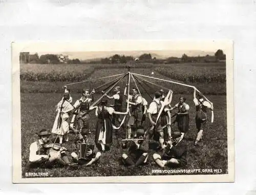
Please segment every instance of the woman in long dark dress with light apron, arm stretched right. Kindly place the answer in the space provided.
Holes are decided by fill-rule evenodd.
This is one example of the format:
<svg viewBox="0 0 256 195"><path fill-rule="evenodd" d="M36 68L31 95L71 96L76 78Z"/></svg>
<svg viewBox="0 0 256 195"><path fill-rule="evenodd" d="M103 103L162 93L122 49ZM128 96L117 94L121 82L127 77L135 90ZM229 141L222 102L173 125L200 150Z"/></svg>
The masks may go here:
<svg viewBox="0 0 256 195"><path fill-rule="evenodd" d="M107 107L108 100L101 100L99 106L96 108L95 114L98 117L96 123L95 143L101 146L102 152L105 152L105 144L112 143L113 132L113 114L127 114L128 112L117 112L112 107Z"/></svg>

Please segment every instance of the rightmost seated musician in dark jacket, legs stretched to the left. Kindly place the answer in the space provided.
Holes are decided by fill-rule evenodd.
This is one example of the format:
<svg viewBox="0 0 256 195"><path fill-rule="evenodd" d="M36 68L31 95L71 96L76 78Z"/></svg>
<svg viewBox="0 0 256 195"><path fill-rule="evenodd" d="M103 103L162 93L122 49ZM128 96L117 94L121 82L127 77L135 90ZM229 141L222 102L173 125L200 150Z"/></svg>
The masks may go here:
<svg viewBox="0 0 256 195"><path fill-rule="evenodd" d="M172 132L172 142L167 143L159 154L153 154L155 162L160 166L170 167L184 166L187 163L187 144L181 139L180 132Z"/></svg>

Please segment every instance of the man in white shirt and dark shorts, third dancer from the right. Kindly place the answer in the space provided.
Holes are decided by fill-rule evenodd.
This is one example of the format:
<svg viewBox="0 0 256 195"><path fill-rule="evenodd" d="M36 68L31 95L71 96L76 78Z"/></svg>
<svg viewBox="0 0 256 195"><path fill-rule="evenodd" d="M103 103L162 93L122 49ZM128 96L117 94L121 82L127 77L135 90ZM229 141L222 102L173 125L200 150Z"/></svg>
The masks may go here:
<svg viewBox="0 0 256 195"><path fill-rule="evenodd" d="M159 143L160 143L160 147L161 149L164 148L164 131L163 131L163 126L165 125L170 125L170 121L168 121L168 123L163 124L161 115L158 118L157 121L157 117L159 115L159 111L162 107L162 101L160 101L162 94L160 93L160 91L156 91L155 93L155 99L153 100L153 102L150 104L150 107L147 110L147 114L148 114L148 119L150 120L151 123L151 127L150 129L148 129L147 133L149 134L155 134L154 138L156 139L156 137L159 136ZM163 109L163 112L169 112L167 108Z"/></svg>

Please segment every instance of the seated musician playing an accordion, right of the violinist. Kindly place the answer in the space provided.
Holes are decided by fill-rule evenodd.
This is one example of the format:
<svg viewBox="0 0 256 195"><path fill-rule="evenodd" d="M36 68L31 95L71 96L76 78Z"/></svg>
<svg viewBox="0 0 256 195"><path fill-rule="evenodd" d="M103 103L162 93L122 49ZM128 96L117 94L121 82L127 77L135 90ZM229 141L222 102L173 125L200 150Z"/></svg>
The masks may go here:
<svg viewBox="0 0 256 195"><path fill-rule="evenodd" d="M75 142L76 144L76 152L72 152L71 153L71 157L73 159L74 162L77 162L78 164L85 164L86 166L89 166L93 163L95 163L96 161L99 160L100 156L101 156L101 153L99 152L97 146L95 144L92 144L94 143L93 141L89 141L89 138L87 137L87 133L83 133L82 132L82 139L79 139ZM81 150L81 148L79 149L79 144L82 144L83 147L86 147L86 144L87 145L87 150ZM92 146L93 145L93 149ZM78 154L78 150L81 150L82 152L84 151L85 154L83 154L83 157L81 157L79 154Z"/></svg>

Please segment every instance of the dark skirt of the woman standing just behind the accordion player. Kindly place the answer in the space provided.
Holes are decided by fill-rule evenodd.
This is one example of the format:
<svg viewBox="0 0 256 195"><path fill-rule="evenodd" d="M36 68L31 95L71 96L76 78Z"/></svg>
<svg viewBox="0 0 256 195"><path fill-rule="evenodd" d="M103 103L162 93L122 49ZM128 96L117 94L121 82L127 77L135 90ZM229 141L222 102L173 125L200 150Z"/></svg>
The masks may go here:
<svg viewBox="0 0 256 195"><path fill-rule="evenodd" d="M113 127L112 127L112 121L110 118L105 119L106 123L106 144L112 143L112 132L113 132ZM95 143L98 143L99 140L99 133L101 128L104 129L104 119L98 119L97 124L96 124L96 132L95 132Z"/></svg>

